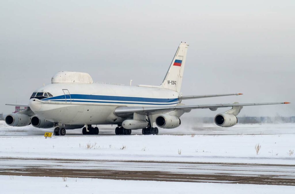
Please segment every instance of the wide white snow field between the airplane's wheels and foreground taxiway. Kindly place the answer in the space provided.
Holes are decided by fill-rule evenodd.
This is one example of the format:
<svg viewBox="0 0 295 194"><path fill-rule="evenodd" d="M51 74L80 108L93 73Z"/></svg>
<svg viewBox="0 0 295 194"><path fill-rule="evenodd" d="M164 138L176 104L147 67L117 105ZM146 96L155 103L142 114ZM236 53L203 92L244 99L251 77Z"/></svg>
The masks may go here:
<svg viewBox="0 0 295 194"><path fill-rule="evenodd" d="M295 129L294 124L289 125L290 131ZM253 127L243 126L243 131ZM268 126L262 127L268 129ZM9 130L15 128L2 125L0 131L4 129L8 135L11 132ZM42 130L44 134L46 129ZM295 164L295 154L289 152L295 150L294 139L294 133L53 136L47 139L42 135L0 136L0 157ZM87 149L87 144L91 148ZM258 155L256 144L261 146ZM124 146L126 148L122 149ZM178 154L179 150L181 154Z"/></svg>

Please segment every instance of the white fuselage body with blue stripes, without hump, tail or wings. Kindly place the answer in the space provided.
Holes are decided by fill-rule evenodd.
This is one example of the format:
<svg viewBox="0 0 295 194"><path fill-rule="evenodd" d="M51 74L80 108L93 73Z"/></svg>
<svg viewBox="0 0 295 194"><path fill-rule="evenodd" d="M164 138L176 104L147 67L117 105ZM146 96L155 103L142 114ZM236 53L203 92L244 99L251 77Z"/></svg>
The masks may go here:
<svg viewBox="0 0 295 194"><path fill-rule="evenodd" d="M98 83L51 83L35 92L53 95L30 99L35 114L48 121L72 125L120 124L126 118L114 114L119 106L175 106L180 95L165 88Z"/></svg>

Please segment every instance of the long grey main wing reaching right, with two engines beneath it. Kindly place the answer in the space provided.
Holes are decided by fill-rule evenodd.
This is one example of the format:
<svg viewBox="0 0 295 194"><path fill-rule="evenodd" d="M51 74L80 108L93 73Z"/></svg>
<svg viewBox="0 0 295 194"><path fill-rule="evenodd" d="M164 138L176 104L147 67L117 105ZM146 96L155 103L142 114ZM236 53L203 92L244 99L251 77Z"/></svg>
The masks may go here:
<svg viewBox="0 0 295 194"><path fill-rule="evenodd" d="M127 116L133 113L137 114L156 114L166 111L201 109L201 108L223 108L233 106L258 106L272 104L289 104L289 102L273 102L273 103L234 103L234 104L205 104L205 105L178 105L178 106L120 106L114 113L117 116Z"/></svg>

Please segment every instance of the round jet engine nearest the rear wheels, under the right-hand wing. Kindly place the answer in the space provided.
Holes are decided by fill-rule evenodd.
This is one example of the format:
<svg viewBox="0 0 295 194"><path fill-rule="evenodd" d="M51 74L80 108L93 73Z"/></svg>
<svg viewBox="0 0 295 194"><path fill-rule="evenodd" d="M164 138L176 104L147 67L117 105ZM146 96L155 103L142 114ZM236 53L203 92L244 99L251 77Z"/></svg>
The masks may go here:
<svg viewBox="0 0 295 194"><path fill-rule="evenodd" d="M164 129L176 128L180 123L180 119L174 115L163 114L156 118L156 125Z"/></svg>

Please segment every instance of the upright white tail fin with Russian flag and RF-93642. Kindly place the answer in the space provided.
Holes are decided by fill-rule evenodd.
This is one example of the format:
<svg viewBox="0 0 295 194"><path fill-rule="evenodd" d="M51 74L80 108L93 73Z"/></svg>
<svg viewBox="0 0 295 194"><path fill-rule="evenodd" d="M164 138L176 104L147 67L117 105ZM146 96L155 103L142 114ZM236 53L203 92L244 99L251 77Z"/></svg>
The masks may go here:
<svg viewBox="0 0 295 194"><path fill-rule="evenodd" d="M181 42L161 87L180 92L188 44Z"/></svg>

